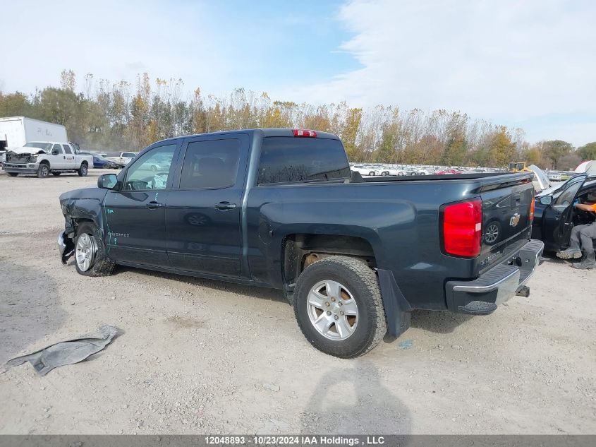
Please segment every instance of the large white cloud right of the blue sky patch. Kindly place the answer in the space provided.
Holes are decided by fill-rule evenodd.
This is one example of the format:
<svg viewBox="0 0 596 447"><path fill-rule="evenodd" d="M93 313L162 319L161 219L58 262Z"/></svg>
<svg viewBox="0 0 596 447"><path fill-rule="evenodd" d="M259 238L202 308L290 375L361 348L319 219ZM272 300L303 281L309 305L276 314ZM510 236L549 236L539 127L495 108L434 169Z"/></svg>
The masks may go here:
<svg viewBox="0 0 596 447"><path fill-rule="evenodd" d="M592 112L595 16L593 1L354 0L341 49L362 68L297 94L520 122Z"/></svg>

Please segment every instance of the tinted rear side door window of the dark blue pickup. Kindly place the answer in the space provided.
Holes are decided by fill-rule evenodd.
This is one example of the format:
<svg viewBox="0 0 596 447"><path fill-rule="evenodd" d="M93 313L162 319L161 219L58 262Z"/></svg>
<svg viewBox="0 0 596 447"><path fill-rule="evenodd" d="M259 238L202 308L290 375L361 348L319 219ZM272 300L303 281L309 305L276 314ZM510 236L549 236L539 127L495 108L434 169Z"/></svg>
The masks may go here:
<svg viewBox="0 0 596 447"><path fill-rule="evenodd" d="M239 155L238 138L189 143L182 165L180 189L221 189L234 186Z"/></svg>

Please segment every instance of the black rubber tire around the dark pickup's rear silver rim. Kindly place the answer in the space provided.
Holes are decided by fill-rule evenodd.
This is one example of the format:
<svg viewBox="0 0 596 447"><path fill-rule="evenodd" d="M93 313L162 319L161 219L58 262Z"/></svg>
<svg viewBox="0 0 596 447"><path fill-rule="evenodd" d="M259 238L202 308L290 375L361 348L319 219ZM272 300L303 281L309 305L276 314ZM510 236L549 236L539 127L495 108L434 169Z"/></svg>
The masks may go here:
<svg viewBox="0 0 596 447"><path fill-rule="evenodd" d="M332 280L348 289L358 306L358 323L344 340L325 338L308 316L308 294L318 282ZM347 256L330 256L305 268L293 294L298 326L310 344L325 354L351 359L366 354L387 333L385 311L375 272L363 261Z"/></svg>

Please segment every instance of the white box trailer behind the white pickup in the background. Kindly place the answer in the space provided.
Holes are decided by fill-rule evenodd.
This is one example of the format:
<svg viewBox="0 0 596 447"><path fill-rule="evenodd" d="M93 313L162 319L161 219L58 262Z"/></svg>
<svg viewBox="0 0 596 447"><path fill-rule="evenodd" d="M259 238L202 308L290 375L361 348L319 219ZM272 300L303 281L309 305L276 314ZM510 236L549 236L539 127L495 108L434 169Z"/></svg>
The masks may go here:
<svg viewBox="0 0 596 447"><path fill-rule="evenodd" d="M0 150L22 148L30 141L68 141L66 127L27 117L0 118Z"/></svg>

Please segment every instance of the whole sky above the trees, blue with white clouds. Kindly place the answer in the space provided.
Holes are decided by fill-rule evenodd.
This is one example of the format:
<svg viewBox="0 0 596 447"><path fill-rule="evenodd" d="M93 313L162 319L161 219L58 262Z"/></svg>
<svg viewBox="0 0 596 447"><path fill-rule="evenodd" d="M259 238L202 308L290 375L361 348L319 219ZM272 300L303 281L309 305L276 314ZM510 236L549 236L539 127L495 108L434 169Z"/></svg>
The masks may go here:
<svg viewBox="0 0 596 447"><path fill-rule="evenodd" d="M182 78L274 100L446 109L526 140L596 141L596 1L131 0L3 4L0 91Z"/></svg>

